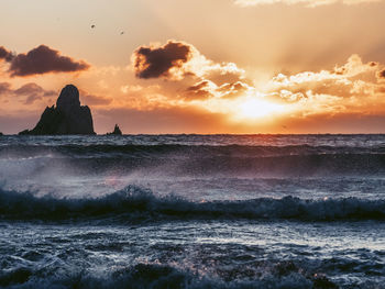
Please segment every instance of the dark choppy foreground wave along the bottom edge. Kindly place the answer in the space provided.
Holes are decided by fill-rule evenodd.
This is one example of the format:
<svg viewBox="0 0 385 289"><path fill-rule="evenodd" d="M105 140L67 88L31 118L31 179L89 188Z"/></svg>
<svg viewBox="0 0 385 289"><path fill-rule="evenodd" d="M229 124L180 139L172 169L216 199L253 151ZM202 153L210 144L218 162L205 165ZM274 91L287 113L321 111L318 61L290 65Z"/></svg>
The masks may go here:
<svg viewBox="0 0 385 289"><path fill-rule="evenodd" d="M339 288L323 275L307 275L293 264L278 264L276 271L249 279L223 281L199 276L168 265L138 264L114 270L107 276L77 274L42 276L29 268L19 268L0 275L2 288L174 288L174 289L241 289L241 288ZM233 273L234 274L234 273ZM234 278L233 278L234 279Z"/></svg>

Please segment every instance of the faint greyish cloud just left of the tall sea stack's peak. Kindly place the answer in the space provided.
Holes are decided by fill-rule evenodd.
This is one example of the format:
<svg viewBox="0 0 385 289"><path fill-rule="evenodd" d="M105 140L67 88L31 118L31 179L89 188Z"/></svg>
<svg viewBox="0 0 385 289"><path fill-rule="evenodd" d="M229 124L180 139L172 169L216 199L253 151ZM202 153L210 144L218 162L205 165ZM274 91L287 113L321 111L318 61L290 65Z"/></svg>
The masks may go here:
<svg viewBox="0 0 385 289"><path fill-rule="evenodd" d="M51 98L57 96L54 90L45 90L41 86L29 82L21 86L18 89L13 89L12 85L9 82L0 82L0 98L1 99L20 99L24 104L32 104L36 100L42 100L44 98Z"/></svg>

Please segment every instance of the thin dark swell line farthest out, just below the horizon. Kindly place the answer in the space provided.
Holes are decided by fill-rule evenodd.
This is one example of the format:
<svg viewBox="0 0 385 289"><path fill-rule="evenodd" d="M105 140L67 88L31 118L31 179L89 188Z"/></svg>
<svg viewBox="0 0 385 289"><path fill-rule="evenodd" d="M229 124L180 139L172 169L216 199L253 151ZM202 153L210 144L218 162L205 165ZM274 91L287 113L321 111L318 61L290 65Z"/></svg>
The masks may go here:
<svg viewBox="0 0 385 289"><path fill-rule="evenodd" d="M0 146L1 153L23 155L38 153L63 153L70 156L97 155L134 155L150 157L162 155L185 156L283 156L283 155L319 155L319 154L385 154L385 145L375 146L329 146L329 145L119 145L119 144L63 144L63 145L8 145Z"/></svg>

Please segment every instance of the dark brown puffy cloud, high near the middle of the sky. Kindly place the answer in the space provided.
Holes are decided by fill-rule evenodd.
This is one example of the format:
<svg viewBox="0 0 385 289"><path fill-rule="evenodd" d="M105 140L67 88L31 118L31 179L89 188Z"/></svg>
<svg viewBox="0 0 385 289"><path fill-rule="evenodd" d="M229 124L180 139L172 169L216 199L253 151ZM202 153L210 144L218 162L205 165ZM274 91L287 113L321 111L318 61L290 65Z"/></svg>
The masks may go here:
<svg viewBox="0 0 385 289"><path fill-rule="evenodd" d="M133 54L133 63L139 78L170 77L170 69L182 68L190 57L188 44L169 41L161 47L139 47Z"/></svg>

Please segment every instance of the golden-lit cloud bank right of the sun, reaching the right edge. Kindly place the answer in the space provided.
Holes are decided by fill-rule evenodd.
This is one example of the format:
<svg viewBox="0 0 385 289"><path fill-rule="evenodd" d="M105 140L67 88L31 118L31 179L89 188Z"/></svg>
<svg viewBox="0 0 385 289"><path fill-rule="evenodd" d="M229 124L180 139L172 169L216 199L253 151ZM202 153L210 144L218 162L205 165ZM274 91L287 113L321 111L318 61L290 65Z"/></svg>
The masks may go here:
<svg viewBox="0 0 385 289"><path fill-rule="evenodd" d="M380 64L363 63L360 56L352 55L346 64L332 70L279 74L266 85L264 93L285 103L292 114L300 118L346 113L385 115L381 73Z"/></svg>

